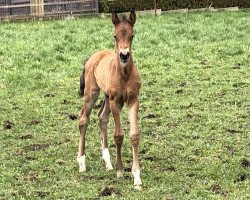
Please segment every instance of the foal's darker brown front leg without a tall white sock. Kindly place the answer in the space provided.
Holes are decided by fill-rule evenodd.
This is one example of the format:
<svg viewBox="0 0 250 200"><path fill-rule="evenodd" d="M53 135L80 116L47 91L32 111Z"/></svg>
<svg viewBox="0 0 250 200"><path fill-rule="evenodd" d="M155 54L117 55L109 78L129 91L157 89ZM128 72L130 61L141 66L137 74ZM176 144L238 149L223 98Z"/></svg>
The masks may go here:
<svg viewBox="0 0 250 200"><path fill-rule="evenodd" d="M121 146L123 142L123 132L121 128L121 119L120 119L120 112L122 105L119 103L119 99L110 100L110 110L114 117L115 122L115 133L114 133L114 140L116 144L116 170L117 170L117 177L122 177L122 159L121 159Z"/></svg>

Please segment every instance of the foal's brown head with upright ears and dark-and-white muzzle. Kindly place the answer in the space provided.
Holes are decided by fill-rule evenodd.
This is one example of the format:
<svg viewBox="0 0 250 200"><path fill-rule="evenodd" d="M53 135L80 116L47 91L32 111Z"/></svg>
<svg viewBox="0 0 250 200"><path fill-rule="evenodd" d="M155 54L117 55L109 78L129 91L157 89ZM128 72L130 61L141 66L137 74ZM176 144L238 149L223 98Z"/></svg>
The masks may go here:
<svg viewBox="0 0 250 200"><path fill-rule="evenodd" d="M131 58L131 46L134 37L133 26L135 24L136 15L132 11L129 19L125 16L119 19L117 13L112 14L112 22L115 25L115 41L116 53L122 64L128 64Z"/></svg>

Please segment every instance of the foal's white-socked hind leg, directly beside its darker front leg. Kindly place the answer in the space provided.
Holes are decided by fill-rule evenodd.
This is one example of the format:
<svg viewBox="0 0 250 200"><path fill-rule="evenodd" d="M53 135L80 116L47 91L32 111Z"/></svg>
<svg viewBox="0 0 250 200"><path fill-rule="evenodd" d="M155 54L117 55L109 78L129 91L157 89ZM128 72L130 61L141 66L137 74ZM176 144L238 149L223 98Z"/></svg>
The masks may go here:
<svg viewBox="0 0 250 200"><path fill-rule="evenodd" d="M107 170L113 169L110 161L110 154L108 150L108 140L107 140L107 126L108 126L110 112L111 111L109 108L109 99L106 97L98 117L99 117L99 126L101 129L102 159L106 164Z"/></svg>

